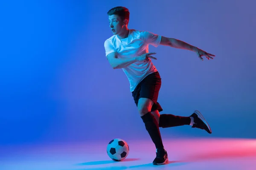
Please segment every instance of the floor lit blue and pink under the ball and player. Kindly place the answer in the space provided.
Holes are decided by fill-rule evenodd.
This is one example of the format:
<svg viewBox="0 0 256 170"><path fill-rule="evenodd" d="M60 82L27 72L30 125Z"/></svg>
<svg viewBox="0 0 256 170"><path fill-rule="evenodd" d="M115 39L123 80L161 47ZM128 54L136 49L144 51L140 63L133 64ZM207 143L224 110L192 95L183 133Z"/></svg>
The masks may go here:
<svg viewBox="0 0 256 170"><path fill-rule="evenodd" d="M256 139L165 140L166 165L151 163L150 140L126 142L129 154L118 162L108 157L106 141L0 147L0 170L256 170Z"/></svg>

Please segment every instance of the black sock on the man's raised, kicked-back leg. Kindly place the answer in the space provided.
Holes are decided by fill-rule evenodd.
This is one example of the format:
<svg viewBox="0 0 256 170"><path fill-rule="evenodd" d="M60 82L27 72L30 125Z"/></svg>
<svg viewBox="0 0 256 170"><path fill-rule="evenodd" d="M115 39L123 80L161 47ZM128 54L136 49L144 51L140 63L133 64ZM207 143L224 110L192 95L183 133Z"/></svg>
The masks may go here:
<svg viewBox="0 0 256 170"><path fill-rule="evenodd" d="M175 116L172 114L161 114L159 117L159 127L163 128L189 125L190 122L190 117Z"/></svg>

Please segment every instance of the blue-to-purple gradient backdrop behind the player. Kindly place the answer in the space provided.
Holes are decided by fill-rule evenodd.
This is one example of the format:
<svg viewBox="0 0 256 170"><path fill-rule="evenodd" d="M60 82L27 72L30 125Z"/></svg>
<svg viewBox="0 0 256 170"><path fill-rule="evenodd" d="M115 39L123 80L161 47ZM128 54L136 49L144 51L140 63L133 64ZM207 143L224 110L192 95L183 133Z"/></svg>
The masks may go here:
<svg viewBox="0 0 256 170"><path fill-rule="evenodd" d="M177 38L215 54L150 46L162 77L164 111L201 111L209 135L189 126L178 137L256 138L256 11L250 0L1 2L0 145L149 139L129 82L105 58L107 11L130 10L128 28Z"/></svg>

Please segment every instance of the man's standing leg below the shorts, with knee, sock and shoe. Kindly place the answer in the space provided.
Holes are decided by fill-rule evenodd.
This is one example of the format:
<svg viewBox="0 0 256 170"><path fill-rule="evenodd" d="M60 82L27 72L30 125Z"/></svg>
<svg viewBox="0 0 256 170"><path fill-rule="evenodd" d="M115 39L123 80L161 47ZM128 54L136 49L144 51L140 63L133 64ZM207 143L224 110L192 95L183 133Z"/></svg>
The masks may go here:
<svg viewBox="0 0 256 170"><path fill-rule="evenodd" d="M151 113L153 103L151 99L140 98L137 107L145 128L157 149L157 157L154 159L153 164L166 164L168 162L168 155L163 147L158 122Z"/></svg>

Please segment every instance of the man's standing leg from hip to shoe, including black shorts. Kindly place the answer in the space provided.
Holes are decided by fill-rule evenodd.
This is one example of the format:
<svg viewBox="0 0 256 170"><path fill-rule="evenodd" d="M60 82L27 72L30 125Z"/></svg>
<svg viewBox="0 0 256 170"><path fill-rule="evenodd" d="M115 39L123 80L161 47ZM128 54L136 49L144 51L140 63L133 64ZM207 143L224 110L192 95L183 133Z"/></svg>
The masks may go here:
<svg viewBox="0 0 256 170"><path fill-rule="evenodd" d="M153 164L166 164L168 162L168 155L163 148L158 122L151 113L152 105L157 101L160 86L160 75L158 72L154 72L146 76L137 85L134 91L132 91L132 96L134 97L134 102L137 105L141 119L157 148L157 156L154 159Z"/></svg>

